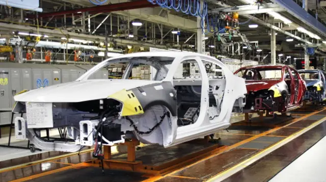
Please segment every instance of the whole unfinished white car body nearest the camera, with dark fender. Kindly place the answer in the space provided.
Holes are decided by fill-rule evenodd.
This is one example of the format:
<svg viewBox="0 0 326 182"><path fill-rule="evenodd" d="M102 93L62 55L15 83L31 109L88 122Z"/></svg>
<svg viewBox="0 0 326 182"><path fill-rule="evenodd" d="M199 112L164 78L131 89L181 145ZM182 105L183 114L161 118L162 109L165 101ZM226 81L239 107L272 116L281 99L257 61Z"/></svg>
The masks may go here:
<svg viewBox="0 0 326 182"><path fill-rule="evenodd" d="M176 77L179 66L190 62L198 65L201 76ZM116 63L128 63L121 80L90 79ZM207 64L220 67L224 75L208 77ZM152 80L128 79L140 65L154 68ZM29 139L41 149L71 152L131 138L169 147L227 128L232 111L245 105L246 93L244 79L209 56L174 51L122 55L99 63L74 82L16 95L13 111L26 112L26 119L15 119L23 126L16 138ZM69 140L40 136L44 128L62 127Z"/></svg>

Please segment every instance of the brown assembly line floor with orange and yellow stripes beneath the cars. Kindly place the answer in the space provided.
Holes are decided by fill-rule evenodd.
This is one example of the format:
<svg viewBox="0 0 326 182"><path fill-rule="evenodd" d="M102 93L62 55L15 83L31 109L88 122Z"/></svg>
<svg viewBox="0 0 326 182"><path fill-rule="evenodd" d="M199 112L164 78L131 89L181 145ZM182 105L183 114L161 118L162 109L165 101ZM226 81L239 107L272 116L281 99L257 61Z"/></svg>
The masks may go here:
<svg viewBox="0 0 326 182"><path fill-rule="evenodd" d="M214 140L206 137L169 148L137 148L138 141L130 141L112 147L111 155L104 149L104 174L91 149L79 155L46 152L0 162L0 182L268 181L326 136L325 120L326 108L320 106L295 110L290 117L233 123Z"/></svg>

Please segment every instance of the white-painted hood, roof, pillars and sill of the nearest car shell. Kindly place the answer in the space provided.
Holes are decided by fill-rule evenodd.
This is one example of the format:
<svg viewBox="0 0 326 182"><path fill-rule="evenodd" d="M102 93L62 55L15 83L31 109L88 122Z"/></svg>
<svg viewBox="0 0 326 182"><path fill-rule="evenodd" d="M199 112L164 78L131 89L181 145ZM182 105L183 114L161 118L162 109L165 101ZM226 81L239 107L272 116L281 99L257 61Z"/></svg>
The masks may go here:
<svg viewBox="0 0 326 182"><path fill-rule="evenodd" d="M161 81L144 81L144 80L88 80L88 78L97 70L104 67L107 62L119 61L123 59L135 59L135 58L155 58L160 57L172 58L173 62L168 70L167 75ZM181 62L186 60L195 60L198 63L201 73L201 103L200 112L197 121L194 124L185 126L174 126L172 128L175 131L169 133L169 142L162 142L165 147L180 144L186 141L194 140L203 136L225 129L230 125L230 118L235 102L238 100L238 105L243 105L243 99L247 94L246 85L244 79L235 76L221 61L202 54L190 53L190 52L171 52L171 51L159 51L159 52L143 52L122 55L114 58L104 60L92 69L87 71L84 75L80 76L76 81L71 83L53 85L46 88L40 88L31 90L14 97L19 102L81 102L86 100L105 99L109 95L116 93L122 89L131 89L141 87L144 85L156 84L161 82L171 82L176 84L180 82L195 82L196 79L186 78L181 80L174 80L177 67ZM224 73L225 79L210 80L207 77L206 69L203 61L218 65ZM127 79L125 77L125 79ZM225 82L226 80L226 82ZM223 102L221 106L221 112L218 117L210 118L212 108L209 107L209 85L210 83L223 83ZM221 95L219 95L221 97ZM244 106L244 105L243 105ZM36 147L41 147L50 150L61 151L75 151L78 147L67 148L67 144L49 144L45 145L38 139L33 140L33 137L28 137ZM46 147L45 147L46 146ZM64 149L63 149L64 148Z"/></svg>

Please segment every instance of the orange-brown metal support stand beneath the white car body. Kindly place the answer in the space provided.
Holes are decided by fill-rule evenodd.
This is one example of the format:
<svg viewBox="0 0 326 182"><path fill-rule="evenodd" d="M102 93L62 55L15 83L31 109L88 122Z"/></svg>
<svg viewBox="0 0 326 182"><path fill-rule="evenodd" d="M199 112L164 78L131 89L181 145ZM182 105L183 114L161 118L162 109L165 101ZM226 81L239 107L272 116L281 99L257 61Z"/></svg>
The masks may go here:
<svg viewBox="0 0 326 182"><path fill-rule="evenodd" d="M192 143L200 143L202 145L207 145L208 142L212 141L209 136L205 136L202 139L197 139L194 141L189 141ZM104 160L101 162L101 160L93 160L86 163L87 166L93 166L93 167L103 167L105 169L116 169L116 170L125 170L125 171L133 171L133 172L140 172L145 173L148 175L160 175L160 174L166 174L167 172L176 169L178 167L185 166L191 162L198 161L200 159L203 159L204 157L207 157L211 153L217 152L221 150L224 147L221 147L219 144L220 139L213 139L214 144L207 145L207 147L203 147L202 150L193 152L189 155L185 155L182 157L175 157L175 158L169 158L165 163L159 163L156 165L156 163L151 164L143 164L143 161L137 161L136 160L136 152L137 150L135 147L140 145L140 142L137 139L132 139L130 141L126 141L125 143L121 145L127 146L127 155L123 154L124 158L117 158L113 157L111 146L103 146L103 154L104 154ZM225 146L226 147L226 146ZM152 154L148 153L149 158L153 158Z"/></svg>

